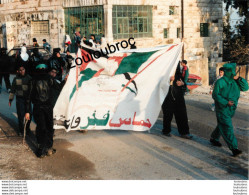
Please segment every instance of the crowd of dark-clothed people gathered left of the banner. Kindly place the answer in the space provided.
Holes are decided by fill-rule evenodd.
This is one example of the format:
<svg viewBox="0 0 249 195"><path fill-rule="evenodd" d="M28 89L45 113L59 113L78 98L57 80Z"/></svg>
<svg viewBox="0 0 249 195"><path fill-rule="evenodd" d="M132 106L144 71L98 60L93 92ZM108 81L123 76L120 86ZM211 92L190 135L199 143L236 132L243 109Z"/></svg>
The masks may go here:
<svg viewBox="0 0 249 195"><path fill-rule="evenodd" d="M50 51L51 46L43 39L43 48ZM64 86L73 57L67 50L65 57L61 57L61 49L54 48L52 56L45 60L39 52L39 44L33 38L32 50L27 49L26 44L16 53L16 76L10 84L8 71L8 56L6 48L1 51L1 81L5 79L9 92L9 106L16 97L16 111L18 116L19 136L29 135L30 121L33 117L36 127L36 139L38 143L36 155L44 157L56 152L53 148L53 107ZM32 52L32 53L31 53Z"/></svg>

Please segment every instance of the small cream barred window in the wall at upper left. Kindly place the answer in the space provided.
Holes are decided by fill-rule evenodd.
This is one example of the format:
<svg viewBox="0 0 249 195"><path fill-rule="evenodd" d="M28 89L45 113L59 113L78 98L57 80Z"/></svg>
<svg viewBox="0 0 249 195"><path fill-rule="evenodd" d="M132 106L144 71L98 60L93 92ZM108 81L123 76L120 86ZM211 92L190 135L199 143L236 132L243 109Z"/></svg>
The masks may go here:
<svg viewBox="0 0 249 195"><path fill-rule="evenodd" d="M31 21L31 34L33 35L48 35L49 21Z"/></svg>

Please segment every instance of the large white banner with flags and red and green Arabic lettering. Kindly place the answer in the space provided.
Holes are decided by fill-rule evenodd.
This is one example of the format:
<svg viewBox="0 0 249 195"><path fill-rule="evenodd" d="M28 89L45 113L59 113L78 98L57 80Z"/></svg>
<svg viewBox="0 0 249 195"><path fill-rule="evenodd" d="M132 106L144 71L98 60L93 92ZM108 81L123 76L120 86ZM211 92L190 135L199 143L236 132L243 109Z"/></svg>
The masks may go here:
<svg viewBox="0 0 249 195"><path fill-rule="evenodd" d="M79 50L78 65L74 62L54 108L54 128L149 130L158 118L181 51L182 44L108 56Z"/></svg>

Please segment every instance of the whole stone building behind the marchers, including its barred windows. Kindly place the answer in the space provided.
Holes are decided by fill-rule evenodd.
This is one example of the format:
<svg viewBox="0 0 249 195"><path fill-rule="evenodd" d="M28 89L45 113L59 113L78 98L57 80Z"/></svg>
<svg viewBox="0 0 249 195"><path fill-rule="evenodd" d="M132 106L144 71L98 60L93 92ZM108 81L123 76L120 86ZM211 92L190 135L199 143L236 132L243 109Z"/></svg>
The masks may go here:
<svg viewBox="0 0 249 195"><path fill-rule="evenodd" d="M190 72L208 84L222 61L222 0L0 0L0 42L8 49L46 38L63 47L65 35L134 37L138 48L184 42ZM71 48L73 50L73 48Z"/></svg>

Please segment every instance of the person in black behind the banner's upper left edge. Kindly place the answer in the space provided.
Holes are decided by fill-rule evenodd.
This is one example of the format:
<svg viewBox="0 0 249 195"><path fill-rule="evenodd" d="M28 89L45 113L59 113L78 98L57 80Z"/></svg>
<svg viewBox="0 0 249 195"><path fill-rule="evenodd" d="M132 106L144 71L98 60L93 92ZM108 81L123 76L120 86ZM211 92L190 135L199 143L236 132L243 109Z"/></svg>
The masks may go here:
<svg viewBox="0 0 249 195"><path fill-rule="evenodd" d="M56 79L58 79L59 81L62 81L62 73L63 73L63 69L65 68L66 62L60 55L60 48L53 49L53 55L48 60L48 64L49 64L50 70L52 68L57 70Z"/></svg>

